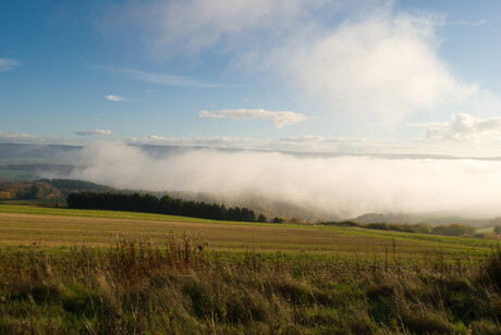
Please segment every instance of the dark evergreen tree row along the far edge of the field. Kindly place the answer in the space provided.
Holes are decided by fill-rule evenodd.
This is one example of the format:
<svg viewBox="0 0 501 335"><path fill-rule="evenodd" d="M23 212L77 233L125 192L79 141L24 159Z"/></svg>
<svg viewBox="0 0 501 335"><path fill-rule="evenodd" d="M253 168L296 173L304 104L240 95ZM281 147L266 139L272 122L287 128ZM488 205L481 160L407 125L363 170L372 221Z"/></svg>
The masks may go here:
<svg viewBox="0 0 501 335"><path fill-rule="evenodd" d="M265 215L256 218L247 208L225 208L224 204L142 194L117 194L82 191L72 193L66 198L68 207L74 209L98 209L130 212L159 213L210 220L267 222Z"/></svg>

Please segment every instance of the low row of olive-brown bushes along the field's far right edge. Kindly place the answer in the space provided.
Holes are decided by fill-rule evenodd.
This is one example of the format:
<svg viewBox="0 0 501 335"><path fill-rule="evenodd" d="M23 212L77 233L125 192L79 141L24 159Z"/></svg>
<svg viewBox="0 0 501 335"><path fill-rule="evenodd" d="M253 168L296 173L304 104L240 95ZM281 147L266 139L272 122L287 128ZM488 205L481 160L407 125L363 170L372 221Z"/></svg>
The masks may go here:
<svg viewBox="0 0 501 335"><path fill-rule="evenodd" d="M430 226L427 223L407 224L407 223L359 223L356 221L329 221L319 222L321 225L335 225L342 227L361 227L377 231L393 231L405 233L420 233L444 236L475 236L476 228L463 223L452 223L439 226Z"/></svg>

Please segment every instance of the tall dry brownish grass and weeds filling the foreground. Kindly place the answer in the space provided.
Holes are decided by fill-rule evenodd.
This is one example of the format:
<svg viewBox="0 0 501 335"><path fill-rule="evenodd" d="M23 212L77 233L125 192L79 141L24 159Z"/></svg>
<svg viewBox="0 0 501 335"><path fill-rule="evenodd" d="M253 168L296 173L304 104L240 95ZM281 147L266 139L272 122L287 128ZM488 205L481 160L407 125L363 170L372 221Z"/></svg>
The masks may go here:
<svg viewBox="0 0 501 335"><path fill-rule="evenodd" d="M0 333L501 333L499 250L465 266L440 257L405 265L207 249L185 234L4 250Z"/></svg>

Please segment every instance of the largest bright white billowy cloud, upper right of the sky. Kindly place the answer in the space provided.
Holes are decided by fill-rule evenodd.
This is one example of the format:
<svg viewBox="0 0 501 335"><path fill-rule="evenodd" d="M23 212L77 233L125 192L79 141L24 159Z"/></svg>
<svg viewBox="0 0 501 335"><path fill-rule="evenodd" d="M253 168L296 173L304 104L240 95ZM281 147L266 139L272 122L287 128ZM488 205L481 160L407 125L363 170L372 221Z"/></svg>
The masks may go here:
<svg viewBox="0 0 501 335"><path fill-rule="evenodd" d="M380 13L296 36L268 66L335 112L387 123L475 98L479 88L456 79L438 57L436 26L415 18Z"/></svg>

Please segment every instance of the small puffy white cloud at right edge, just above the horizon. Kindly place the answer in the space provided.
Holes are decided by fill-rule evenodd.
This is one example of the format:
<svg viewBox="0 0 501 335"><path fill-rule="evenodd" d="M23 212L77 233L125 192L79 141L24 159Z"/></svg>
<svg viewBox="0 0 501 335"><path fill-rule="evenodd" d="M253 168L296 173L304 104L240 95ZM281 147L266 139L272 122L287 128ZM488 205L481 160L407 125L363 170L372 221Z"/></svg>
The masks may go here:
<svg viewBox="0 0 501 335"><path fill-rule="evenodd" d="M501 116L477 119L469 114L452 115L448 122L415 123L410 126L427 127L418 139L423 141L488 142L501 139Z"/></svg>

